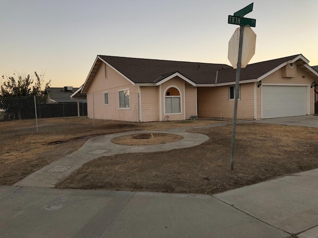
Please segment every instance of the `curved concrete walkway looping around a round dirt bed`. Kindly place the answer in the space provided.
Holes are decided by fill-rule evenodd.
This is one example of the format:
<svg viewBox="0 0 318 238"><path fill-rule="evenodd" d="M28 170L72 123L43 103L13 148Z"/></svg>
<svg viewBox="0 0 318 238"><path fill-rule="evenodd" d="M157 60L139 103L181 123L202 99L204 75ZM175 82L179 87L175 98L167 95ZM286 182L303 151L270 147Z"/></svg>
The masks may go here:
<svg viewBox="0 0 318 238"><path fill-rule="evenodd" d="M229 122L214 123L206 126L180 127L169 130L133 131L93 137L86 141L79 150L43 167L28 177L18 181L14 186L55 187L55 184L69 177L83 164L102 156L134 152L166 151L200 145L207 141L209 137L203 134L187 132L186 130L190 128L218 127L227 124L229 124ZM147 146L118 145L110 141L114 137L145 132L172 133L183 136L183 139L172 143Z"/></svg>

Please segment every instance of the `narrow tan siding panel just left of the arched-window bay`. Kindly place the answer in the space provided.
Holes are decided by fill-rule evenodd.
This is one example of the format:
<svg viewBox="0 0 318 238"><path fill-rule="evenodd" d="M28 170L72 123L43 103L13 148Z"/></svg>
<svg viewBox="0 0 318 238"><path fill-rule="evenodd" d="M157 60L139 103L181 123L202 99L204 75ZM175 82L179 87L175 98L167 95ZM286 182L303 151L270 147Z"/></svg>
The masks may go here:
<svg viewBox="0 0 318 238"><path fill-rule="evenodd" d="M158 121L159 97L158 86L141 87L142 121Z"/></svg>

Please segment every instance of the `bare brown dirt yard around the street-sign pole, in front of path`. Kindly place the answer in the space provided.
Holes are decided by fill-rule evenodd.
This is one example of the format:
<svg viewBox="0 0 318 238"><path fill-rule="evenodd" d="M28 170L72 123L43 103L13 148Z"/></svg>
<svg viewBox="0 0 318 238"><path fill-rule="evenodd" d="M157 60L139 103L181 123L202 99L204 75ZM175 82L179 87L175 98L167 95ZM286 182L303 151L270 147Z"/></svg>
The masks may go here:
<svg viewBox="0 0 318 238"><path fill-rule="evenodd" d="M210 139L185 149L102 157L57 187L212 194L318 168L318 128L239 124L234 171L232 125L189 131Z"/></svg>

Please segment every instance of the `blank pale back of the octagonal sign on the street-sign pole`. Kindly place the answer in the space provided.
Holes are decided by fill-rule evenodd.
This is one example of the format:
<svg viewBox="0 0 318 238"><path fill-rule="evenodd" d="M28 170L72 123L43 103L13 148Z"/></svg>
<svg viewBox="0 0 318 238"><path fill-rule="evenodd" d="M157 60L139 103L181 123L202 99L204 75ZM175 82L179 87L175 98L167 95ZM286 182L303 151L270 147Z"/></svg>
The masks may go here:
<svg viewBox="0 0 318 238"><path fill-rule="evenodd" d="M238 67L238 58L239 58L239 29L237 28L229 41L229 53L228 59L230 60L233 68ZM241 68L245 68L249 60L255 54L255 45L256 45L256 34L253 30L247 25L244 26L243 32L243 47L242 47L242 61Z"/></svg>

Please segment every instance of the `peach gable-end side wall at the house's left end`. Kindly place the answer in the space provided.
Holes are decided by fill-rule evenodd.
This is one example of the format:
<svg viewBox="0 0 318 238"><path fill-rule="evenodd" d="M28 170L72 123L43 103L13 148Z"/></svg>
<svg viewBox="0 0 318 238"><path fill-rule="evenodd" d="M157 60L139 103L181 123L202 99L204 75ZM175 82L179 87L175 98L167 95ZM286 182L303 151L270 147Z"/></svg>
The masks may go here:
<svg viewBox="0 0 318 238"><path fill-rule="evenodd" d="M130 109L119 109L119 91L129 89ZM105 78L104 64L101 64L96 76L87 90L87 114L93 118L93 95L95 119L111 119L139 121L138 86L132 85L127 79L107 65ZM104 105L104 93L108 92L107 106Z"/></svg>

